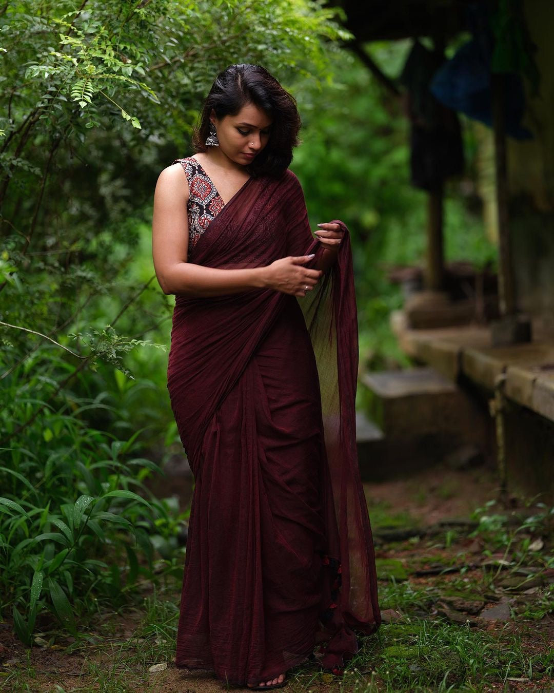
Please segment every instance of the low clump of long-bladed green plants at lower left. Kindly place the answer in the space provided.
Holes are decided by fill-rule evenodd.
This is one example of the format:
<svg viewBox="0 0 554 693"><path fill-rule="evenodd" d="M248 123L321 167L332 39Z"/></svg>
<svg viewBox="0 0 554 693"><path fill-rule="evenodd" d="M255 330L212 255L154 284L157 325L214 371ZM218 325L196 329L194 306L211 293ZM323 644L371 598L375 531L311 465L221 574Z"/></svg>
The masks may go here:
<svg viewBox="0 0 554 693"><path fill-rule="evenodd" d="M19 398L16 420L28 406ZM2 450L0 606L27 644L46 611L76 634L75 611L124 602L140 580L171 573L178 554L186 514L171 501L145 499L144 482L159 468L136 456L141 431L120 440L90 428L82 414L96 407L101 401L69 399ZM160 545L164 560L154 565Z"/></svg>

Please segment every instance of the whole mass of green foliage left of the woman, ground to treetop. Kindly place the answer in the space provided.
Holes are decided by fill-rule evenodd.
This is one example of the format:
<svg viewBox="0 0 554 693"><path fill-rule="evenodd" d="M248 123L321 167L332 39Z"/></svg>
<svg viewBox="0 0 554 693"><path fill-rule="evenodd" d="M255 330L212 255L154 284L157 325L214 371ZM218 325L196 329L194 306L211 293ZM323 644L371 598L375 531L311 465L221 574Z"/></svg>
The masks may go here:
<svg viewBox="0 0 554 693"><path fill-rule="evenodd" d="M333 15L311 0L2 3L0 616L27 644L49 616L76 635L103 601L181 577L186 514L146 486L147 446L178 441L154 185L228 64L321 85L347 37Z"/></svg>

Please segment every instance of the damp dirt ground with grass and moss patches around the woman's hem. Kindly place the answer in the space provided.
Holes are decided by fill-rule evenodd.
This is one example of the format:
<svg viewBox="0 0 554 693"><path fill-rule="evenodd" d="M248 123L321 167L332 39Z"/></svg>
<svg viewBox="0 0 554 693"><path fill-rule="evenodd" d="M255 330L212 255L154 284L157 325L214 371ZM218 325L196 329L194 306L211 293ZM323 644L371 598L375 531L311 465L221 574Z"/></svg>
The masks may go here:
<svg viewBox="0 0 554 693"><path fill-rule="evenodd" d="M497 496L485 468L436 468L365 484L384 624L342 678L289 672L287 690L554 690L552 516ZM479 518L481 523L479 523ZM533 522L525 520L533 517ZM527 525L525 524L527 522ZM523 523L523 527L522 527ZM0 624L0 688L10 691L211 693L209 672L173 664L179 584L81 624L75 641L44 628L26 649ZM154 665L160 671L149 669ZM446 690L446 689L445 689Z"/></svg>

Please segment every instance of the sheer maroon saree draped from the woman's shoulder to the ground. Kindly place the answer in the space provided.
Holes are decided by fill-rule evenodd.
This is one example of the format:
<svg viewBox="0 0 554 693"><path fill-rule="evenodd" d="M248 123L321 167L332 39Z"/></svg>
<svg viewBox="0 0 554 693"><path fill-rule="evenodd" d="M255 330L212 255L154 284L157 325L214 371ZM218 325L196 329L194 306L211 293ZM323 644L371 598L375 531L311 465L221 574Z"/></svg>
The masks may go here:
<svg viewBox="0 0 554 693"><path fill-rule="evenodd" d="M342 222L339 222L348 231ZM287 170L251 178L189 261L261 267L323 247ZM257 685L316 657L341 672L380 622L355 440L348 232L306 297L177 295L168 391L195 478L176 664Z"/></svg>

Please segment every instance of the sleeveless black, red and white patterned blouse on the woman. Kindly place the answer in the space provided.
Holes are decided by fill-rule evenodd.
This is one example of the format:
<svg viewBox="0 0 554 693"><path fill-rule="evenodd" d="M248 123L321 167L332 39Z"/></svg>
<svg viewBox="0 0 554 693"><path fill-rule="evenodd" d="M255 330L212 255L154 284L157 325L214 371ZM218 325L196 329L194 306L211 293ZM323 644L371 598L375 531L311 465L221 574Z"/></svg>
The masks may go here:
<svg viewBox="0 0 554 693"><path fill-rule="evenodd" d="M177 163L183 167L188 182L188 245L193 249L225 203L199 161L193 157L172 161Z"/></svg>

